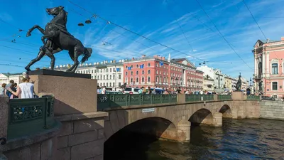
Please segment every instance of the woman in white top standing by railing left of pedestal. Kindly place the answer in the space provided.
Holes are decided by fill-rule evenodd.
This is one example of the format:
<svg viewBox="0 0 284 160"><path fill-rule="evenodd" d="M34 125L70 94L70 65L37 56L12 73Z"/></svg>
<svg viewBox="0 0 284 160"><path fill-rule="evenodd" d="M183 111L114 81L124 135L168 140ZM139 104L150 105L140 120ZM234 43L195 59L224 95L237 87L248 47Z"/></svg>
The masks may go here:
<svg viewBox="0 0 284 160"><path fill-rule="evenodd" d="M18 84L17 92L13 92L9 87L8 90L19 98L33 98L33 83L29 82L30 77L28 75L22 76L22 83ZM19 96L21 95L21 96Z"/></svg>

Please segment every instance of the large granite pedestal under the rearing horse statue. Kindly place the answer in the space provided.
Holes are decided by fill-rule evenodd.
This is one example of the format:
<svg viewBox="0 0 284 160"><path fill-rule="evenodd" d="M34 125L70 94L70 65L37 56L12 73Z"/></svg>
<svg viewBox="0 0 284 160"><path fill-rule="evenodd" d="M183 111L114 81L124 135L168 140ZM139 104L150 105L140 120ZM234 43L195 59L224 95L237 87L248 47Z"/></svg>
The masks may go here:
<svg viewBox="0 0 284 160"><path fill-rule="evenodd" d="M91 80L90 75L54 70L28 74L35 82L36 94L50 92L55 96L55 116L97 111L97 80Z"/></svg>

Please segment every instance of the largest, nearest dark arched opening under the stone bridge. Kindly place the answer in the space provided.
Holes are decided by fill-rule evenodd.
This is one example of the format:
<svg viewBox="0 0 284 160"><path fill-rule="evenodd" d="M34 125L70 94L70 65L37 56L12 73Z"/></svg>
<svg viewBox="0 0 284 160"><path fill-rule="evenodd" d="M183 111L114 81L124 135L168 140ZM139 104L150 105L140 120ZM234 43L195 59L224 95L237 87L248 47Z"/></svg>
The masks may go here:
<svg viewBox="0 0 284 160"><path fill-rule="evenodd" d="M148 159L148 149L159 145L158 139L174 139L176 134L175 124L168 119L140 119L120 129L104 142L104 160Z"/></svg>

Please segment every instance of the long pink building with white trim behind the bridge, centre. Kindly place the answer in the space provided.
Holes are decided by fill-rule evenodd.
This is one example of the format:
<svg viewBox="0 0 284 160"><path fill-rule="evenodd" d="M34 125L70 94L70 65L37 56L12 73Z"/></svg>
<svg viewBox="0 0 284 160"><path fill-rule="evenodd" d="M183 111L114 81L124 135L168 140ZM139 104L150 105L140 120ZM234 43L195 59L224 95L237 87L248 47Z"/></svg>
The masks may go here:
<svg viewBox="0 0 284 160"><path fill-rule="evenodd" d="M131 87L160 87L176 90L202 90L203 72L186 58L168 59L154 55L153 58L132 58L124 62L124 82Z"/></svg>

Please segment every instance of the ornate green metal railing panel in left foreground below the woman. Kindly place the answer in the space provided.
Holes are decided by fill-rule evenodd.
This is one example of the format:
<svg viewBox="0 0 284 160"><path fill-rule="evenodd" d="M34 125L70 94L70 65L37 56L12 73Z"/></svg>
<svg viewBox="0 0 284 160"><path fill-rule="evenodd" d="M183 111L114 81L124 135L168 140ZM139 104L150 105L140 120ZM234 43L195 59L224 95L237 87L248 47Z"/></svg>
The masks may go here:
<svg viewBox="0 0 284 160"><path fill-rule="evenodd" d="M8 139L27 136L54 124L54 97L9 100Z"/></svg>

